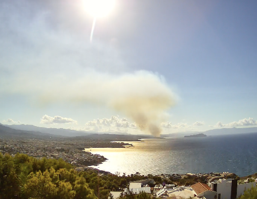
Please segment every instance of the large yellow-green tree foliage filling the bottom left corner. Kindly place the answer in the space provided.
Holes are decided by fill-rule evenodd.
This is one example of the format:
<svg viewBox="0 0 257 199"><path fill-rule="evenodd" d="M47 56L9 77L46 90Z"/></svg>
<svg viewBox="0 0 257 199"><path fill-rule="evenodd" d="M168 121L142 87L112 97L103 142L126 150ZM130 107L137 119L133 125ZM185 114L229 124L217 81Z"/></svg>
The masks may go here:
<svg viewBox="0 0 257 199"><path fill-rule="evenodd" d="M100 193L109 194L109 190ZM85 178L71 164L26 154L0 153L0 198L97 199ZM103 197L105 199L106 197Z"/></svg>

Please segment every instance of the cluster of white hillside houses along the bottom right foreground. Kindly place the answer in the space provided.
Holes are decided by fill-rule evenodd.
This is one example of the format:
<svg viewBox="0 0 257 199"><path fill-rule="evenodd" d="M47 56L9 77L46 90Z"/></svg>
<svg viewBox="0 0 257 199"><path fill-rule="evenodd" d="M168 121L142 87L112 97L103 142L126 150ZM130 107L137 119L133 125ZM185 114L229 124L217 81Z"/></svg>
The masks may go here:
<svg viewBox="0 0 257 199"><path fill-rule="evenodd" d="M129 183L128 188L124 191L111 191L110 194L114 199L119 198L127 193L133 193L135 195L141 192L152 194L157 198L172 198L172 199L236 199L244 193L246 189L256 187L257 178L248 177L246 179L239 180L239 178L230 178L235 174L223 172L223 173L210 173L210 174L185 174L185 175L161 175L162 179L181 179L188 178L189 176L202 177L205 176L206 183L195 182L192 185L178 185L156 183L153 179L142 179L132 181ZM175 179L175 178L176 179Z"/></svg>

